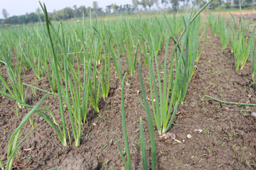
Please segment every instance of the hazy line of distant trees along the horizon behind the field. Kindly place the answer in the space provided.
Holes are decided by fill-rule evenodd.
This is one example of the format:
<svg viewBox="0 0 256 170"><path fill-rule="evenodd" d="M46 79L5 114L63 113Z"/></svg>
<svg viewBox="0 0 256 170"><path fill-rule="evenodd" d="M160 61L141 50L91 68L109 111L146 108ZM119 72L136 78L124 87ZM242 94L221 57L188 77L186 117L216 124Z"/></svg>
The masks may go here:
<svg viewBox="0 0 256 170"><path fill-rule="evenodd" d="M201 8L207 3L208 0L196 0L196 7ZM256 0L242 0L242 5L249 6L251 4L255 4ZM160 7L161 3L161 7ZM82 16L105 16L112 14L120 14L120 13L138 13L142 11L151 11L152 6L156 6L156 9L169 8L174 11L178 10L178 8L186 8L188 5L188 1L186 0L132 0L131 4L125 4L117 6L117 4L111 4L106 6L105 10L98 6L97 1L93 1L92 7L88 6L73 6L73 8L66 7L59 11L53 11L53 13L49 13L50 20L60 21L67 20L70 18L81 18ZM218 6L224 6L225 8L230 8L230 6L239 6L239 0L215 0L210 4L210 8L216 8ZM43 13L41 13L40 9L36 9L36 12L26 13L22 16L11 16L9 17L9 13L6 9L2 10L2 14L4 19L0 19L0 25L3 24L27 24L27 23L36 23L38 21L44 21Z"/></svg>

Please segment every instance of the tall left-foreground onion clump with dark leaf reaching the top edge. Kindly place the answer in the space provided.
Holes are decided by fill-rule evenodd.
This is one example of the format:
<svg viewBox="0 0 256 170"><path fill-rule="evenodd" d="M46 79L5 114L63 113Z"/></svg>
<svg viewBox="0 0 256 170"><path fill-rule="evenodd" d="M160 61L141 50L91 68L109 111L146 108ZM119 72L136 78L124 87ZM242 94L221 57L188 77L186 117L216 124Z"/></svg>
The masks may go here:
<svg viewBox="0 0 256 170"><path fill-rule="evenodd" d="M41 8L43 9L43 12L46 16L46 28L48 30L48 37L50 39L50 45L52 49L53 57L51 57L51 62L53 62L53 74L55 74L55 77L58 81L57 88L58 88L58 101L60 106L60 115L61 115L61 122L62 122L62 128L63 130L60 130L63 135L63 145L67 145L67 137L66 137L66 129L68 129L68 126L65 123L65 110L63 103L65 103L65 106L68 108L68 114L70 118L71 128L73 132L73 137L75 138L75 146L78 147L80 145L80 137L81 137L81 129L82 129L82 120L86 118L87 113L87 101L89 100L89 89L90 89L90 70L87 69L90 68L91 61L85 60L84 64L84 74L83 74L83 80L84 83L82 84L82 81L80 80L81 74L80 71L78 71L78 74L75 72L75 69L72 65L72 62L70 61L69 57L69 42L67 42L65 38L65 32L63 30L63 25L60 23L60 31L61 35L59 36L53 25L50 23L48 19L48 13L46 10L45 4L41 4ZM55 40L55 44L58 45L57 47L60 47L61 52L59 55L59 58L61 60L60 62L57 62L59 58L57 57L57 53L55 52L57 49L53 45L53 38ZM77 59L78 60L78 59ZM60 66L61 64L61 66ZM59 72L59 70L63 69L63 74ZM79 65L78 65L78 70ZM87 70L87 71L86 71ZM64 83L62 79L64 79ZM81 96L82 93L82 96ZM70 133L68 131L68 136L70 137Z"/></svg>

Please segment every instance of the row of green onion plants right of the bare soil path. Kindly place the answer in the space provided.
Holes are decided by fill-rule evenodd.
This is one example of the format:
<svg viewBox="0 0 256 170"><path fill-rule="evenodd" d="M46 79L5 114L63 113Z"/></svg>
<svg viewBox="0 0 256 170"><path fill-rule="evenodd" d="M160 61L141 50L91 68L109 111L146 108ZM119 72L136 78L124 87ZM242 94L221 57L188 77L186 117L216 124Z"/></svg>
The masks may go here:
<svg viewBox="0 0 256 170"><path fill-rule="evenodd" d="M218 16L217 18L217 16L210 14L208 15L208 21L213 34L220 36L223 50L228 47L229 42L237 72L245 67L250 56L252 81L256 84L256 26L253 24L252 16L253 13L251 16L247 14L243 18L240 6L240 16L237 18L232 13L230 13L230 19L227 16Z"/></svg>

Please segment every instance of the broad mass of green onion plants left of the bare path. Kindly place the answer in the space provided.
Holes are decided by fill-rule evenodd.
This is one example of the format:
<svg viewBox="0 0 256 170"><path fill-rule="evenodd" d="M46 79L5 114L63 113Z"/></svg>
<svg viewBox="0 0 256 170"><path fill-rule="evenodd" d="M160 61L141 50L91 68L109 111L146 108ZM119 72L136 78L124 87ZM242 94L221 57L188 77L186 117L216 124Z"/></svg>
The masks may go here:
<svg viewBox="0 0 256 170"><path fill-rule="evenodd" d="M208 3L210 4L210 2ZM208 5L206 4L206 6ZM206 8L204 6L203 8ZM139 77L142 86L142 106L148 117L152 145L152 169L156 164L154 130L159 135L171 127L180 103L183 103L188 84L193 76L195 62L201 57L206 42L207 28L201 31L201 18L198 13L186 13L183 17L154 16L154 18L127 18L111 21L85 21L82 23L51 23L45 5L41 5L46 17L46 27L40 23L35 28L9 28L2 33L1 64L6 67L8 78L0 73L1 95L8 96L22 108L32 108L21 125L11 136L8 146L6 169L11 169L16 149L26 137L18 143L21 128L31 115L37 113L53 128L63 146L75 140L79 147L82 125L87 122L87 108L100 113L99 101L107 99L110 90L110 65L114 64L119 80L122 82L122 125L124 141L129 152L126 125L124 120L124 78L121 60L129 68L129 76L137 69L137 57L149 69L151 105L146 98L141 66ZM193 8L192 8L193 9ZM180 33L181 28L183 31ZM203 33L201 33L203 32ZM200 35L201 33L201 35ZM206 35L204 34L206 33ZM177 35L180 34L178 37ZM203 35L205 36L204 39ZM8 38L8 36L10 36ZM203 45L199 42L203 41ZM174 43L171 55L169 46ZM164 63L159 60L159 51L165 47ZM23 83L21 74L24 69L32 69L38 79L47 77L51 91ZM26 103L25 89L31 88L46 93L36 106ZM58 96L60 120L46 106L38 108L48 95ZM65 119L68 114L69 120ZM70 126L68 126L70 121ZM144 132L142 121L141 145L145 161ZM31 120L33 126L33 120ZM36 127L33 127L34 130ZM32 131L31 130L31 131ZM118 144L118 142L117 142ZM119 147L119 145L118 145ZM119 147L120 150L120 147ZM124 160L124 157L122 157ZM127 169L131 169L127 154ZM0 162L4 169L4 164ZM147 169L146 163L143 165Z"/></svg>

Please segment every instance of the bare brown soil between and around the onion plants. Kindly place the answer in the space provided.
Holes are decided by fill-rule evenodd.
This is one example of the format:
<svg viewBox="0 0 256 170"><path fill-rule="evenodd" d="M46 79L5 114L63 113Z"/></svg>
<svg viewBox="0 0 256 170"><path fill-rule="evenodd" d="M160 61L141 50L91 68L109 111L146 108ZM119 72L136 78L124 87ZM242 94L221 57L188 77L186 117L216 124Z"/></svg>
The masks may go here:
<svg viewBox="0 0 256 170"><path fill-rule="evenodd" d="M159 58L161 61L164 59L164 51L159 52ZM122 67L127 70L124 58L122 60ZM240 72L235 72L229 47L223 50L220 39L208 33L196 67L186 100L179 106L174 125L169 130L176 135L176 140L170 138L163 141L155 131L158 169L256 169L256 118L251 116L256 112L256 107L227 105L204 96L256 103L256 94L250 82L250 62ZM3 65L0 71L6 78ZM58 166L60 169L123 169L116 144L116 140L119 140L124 149L121 86L113 64L111 72L110 95L106 101L100 100L99 114L89 108L88 123L82 128L80 147L74 147L74 141L71 141L71 145L68 142L68 147L63 147L54 130L35 114L33 124L40 125L19 147L14 169L50 169ZM148 68L143 65L144 81L147 81L147 72ZM31 69L23 72L22 81L50 91L47 77L36 79ZM133 169L142 169L139 117L144 123L148 155L150 141L146 113L137 98L137 91L140 91L138 70L127 82L129 86L124 89L124 102ZM149 95L148 84L146 89ZM26 90L31 105L36 105L44 95L36 91L35 96L28 87ZM45 103L60 120L58 98L48 96ZM14 112L16 109L18 116ZM15 101L0 96L0 159L4 163L9 137L26 113L28 110L18 108ZM66 120L69 120L68 114ZM30 130L31 123L28 122L23 127L21 137ZM188 138L188 135L191 137Z"/></svg>

